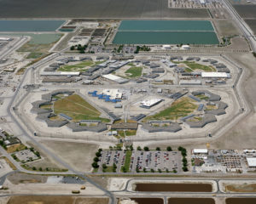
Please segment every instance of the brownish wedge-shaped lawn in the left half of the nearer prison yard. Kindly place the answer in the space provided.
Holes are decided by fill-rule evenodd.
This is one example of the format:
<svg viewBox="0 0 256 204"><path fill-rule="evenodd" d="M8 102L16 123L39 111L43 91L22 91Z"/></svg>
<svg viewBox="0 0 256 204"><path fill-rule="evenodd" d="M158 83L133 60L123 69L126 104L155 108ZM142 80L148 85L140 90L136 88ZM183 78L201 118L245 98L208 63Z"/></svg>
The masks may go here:
<svg viewBox="0 0 256 204"><path fill-rule="evenodd" d="M109 122L109 119L101 118L101 113L77 94L55 101L54 111L55 114L64 113L71 116L73 121L101 120L102 122Z"/></svg>

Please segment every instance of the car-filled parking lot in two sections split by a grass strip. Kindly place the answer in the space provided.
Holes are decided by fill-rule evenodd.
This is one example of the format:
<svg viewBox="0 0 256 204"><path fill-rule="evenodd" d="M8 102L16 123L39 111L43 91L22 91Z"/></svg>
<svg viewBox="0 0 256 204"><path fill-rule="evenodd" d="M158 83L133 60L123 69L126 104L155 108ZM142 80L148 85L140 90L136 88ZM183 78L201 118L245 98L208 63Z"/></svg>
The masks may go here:
<svg viewBox="0 0 256 204"><path fill-rule="evenodd" d="M116 164L116 172L121 172L121 167L125 166L126 151L123 150L103 150L100 158L99 172L102 172L102 164L113 167ZM153 170L154 171L153 171ZM128 169L127 169L128 170ZM182 172L182 156L179 151L166 150L133 150L129 172Z"/></svg>

